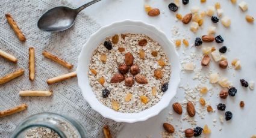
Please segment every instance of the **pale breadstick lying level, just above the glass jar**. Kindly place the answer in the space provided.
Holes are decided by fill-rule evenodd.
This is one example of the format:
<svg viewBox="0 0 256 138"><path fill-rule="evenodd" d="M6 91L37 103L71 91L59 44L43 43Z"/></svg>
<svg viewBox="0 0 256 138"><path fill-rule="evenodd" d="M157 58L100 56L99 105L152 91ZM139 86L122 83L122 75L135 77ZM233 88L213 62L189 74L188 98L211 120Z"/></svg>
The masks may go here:
<svg viewBox="0 0 256 138"><path fill-rule="evenodd" d="M21 97L49 97L52 95L52 91L20 91Z"/></svg>

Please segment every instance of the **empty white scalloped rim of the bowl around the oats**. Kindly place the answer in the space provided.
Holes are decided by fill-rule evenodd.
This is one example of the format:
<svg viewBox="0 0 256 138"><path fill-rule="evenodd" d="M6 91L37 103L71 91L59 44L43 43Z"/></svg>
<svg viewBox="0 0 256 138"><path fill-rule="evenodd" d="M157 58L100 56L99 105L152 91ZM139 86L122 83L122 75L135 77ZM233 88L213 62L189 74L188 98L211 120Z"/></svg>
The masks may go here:
<svg viewBox="0 0 256 138"><path fill-rule="evenodd" d="M169 88L166 92L164 92L161 100L149 109L143 110L139 113L121 113L116 112L115 110L110 109L107 106L104 106L96 98L96 95L94 94L91 86L89 85L88 72L90 58L92 56L93 50L95 50L96 47L100 43L102 43L102 41L104 41L106 37L114 34L124 33L146 34L153 40L157 41L161 46L163 46L164 52L166 52L169 58L170 65L172 67ZM180 71L181 67L178 53L176 52L175 47L166 37L164 32L155 28L155 26L149 25L147 23L133 20L123 20L121 22L114 22L111 25L104 26L90 36L89 40L87 40L87 43L84 44L78 57L77 77L78 85L81 88L83 96L93 110L100 113L105 118L110 118L117 122L132 123L138 121L145 121L152 116L158 115L161 110L169 105L170 100L172 100L172 98L175 96L176 89L178 88L178 84L180 83Z"/></svg>

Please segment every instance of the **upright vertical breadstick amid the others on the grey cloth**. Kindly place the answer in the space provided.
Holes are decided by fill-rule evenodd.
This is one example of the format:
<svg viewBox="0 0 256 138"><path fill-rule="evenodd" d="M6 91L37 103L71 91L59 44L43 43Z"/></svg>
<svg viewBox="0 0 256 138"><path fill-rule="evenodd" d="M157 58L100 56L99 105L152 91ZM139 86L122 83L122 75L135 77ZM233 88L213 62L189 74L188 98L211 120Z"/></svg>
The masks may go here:
<svg viewBox="0 0 256 138"><path fill-rule="evenodd" d="M30 53L30 57L29 57L29 77L30 80L34 80L35 79L35 50L33 47L30 47L30 49L28 49L28 52Z"/></svg>

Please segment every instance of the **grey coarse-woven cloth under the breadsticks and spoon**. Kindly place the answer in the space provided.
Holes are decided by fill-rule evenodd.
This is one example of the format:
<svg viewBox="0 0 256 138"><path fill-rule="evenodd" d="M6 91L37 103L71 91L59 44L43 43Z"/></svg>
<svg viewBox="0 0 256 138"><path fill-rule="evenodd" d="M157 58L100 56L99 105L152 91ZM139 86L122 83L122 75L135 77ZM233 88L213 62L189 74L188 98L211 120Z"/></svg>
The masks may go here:
<svg viewBox="0 0 256 138"><path fill-rule="evenodd" d="M0 76L24 68L23 76L0 85L0 110L9 109L22 103L28 104L28 110L15 115L0 118L0 137L10 137L14 128L25 118L40 112L55 112L77 119L83 124L87 137L103 137L102 126L110 125L111 133L116 137L123 124L105 119L91 109L83 98L77 85L77 79L66 80L55 85L47 85L46 80L60 74L74 71L77 57L87 38L99 29L99 25L84 13L80 13L75 25L67 31L49 33L37 28L37 20L47 10L60 5L69 5L64 1L0 1L0 49L19 59L17 64L0 57ZM69 5L72 7L72 5ZM74 7L72 7L74 8ZM27 38L20 43L5 19L10 13ZM36 79L28 79L28 47L36 52ZM46 59L43 50L74 65L72 70ZM90 57L88 57L90 58ZM52 97L19 97L21 90L53 90Z"/></svg>

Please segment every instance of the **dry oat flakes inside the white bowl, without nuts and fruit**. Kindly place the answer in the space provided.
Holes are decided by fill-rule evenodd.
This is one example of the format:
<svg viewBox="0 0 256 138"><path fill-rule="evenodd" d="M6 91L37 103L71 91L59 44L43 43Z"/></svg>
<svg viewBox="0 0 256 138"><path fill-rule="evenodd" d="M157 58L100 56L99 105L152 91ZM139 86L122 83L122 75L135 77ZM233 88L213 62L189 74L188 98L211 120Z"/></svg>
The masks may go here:
<svg viewBox="0 0 256 138"><path fill-rule="evenodd" d="M107 107L111 107L111 101L117 101L119 103L119 112L140 112L142 110L148 109L151 106L154 106L158 101L161 100L163 92L161 91L161 85L163 83L168 83L170 80L171 67L169 64L169 59L167 58L166 53L163 52L163 48L157 43L157 41L152 40L146 35L143 34L125 34L126 37L123 39L119 34L119 42L113 44L113 49L107 50L103 43L99 44L97 49L93 52L92 59L90 61L89 68L95 69L97 71L96 76L89 71L89 81L92 86L93 91L96 94L96 97L102 104ZM146 46L139 46L138 41L146 38L148 43ZM111 37L106 38L106 40L111 41ZM119 52L118 48L125 48L124 52ZM145 52L145 58L141 59L139 57L139 51L143 50ZM151 55L152 51L157 51L157 57ZM111 77L114 74L119 73L118 66L125 63L125 53L131 52L134 56L134 64L139 65L140 74L146 76L148 79L148 84L140 85L135 82L132 87L125 86L125 82L112 84L110 83ZM107 61L105 63L101 62L101 54L107 55ZM158 65L158 60L162 58L165 62L165 66L161 67ZM163 71L162 79L155 79L154 70L160 68ZM128 72L125 77L132 76ZM104 86L102 86L98 79L99 77L105 78ZM152 95L152 87L157 88L157 94ZM108 89L110 95L108 98L102 98L102 90ZM128 93L131 93L133 97L130 101L125 101L125 96ZM148 97L148 103L143 104L140 101L140 96L145 95Z"/></svg>

